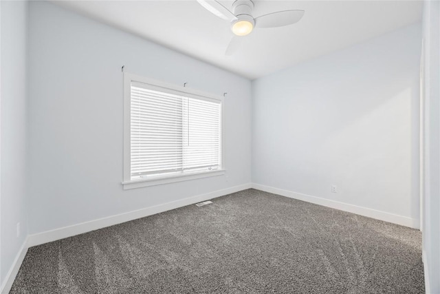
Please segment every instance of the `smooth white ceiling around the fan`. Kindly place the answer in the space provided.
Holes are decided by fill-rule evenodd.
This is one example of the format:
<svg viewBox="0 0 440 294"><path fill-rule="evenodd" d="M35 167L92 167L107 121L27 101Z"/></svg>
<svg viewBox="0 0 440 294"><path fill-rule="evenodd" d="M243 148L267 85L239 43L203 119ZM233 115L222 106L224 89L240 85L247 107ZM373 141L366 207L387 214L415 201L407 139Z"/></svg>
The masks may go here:
<svg viewBox="0 0 440 294"><path fill-rule="evenodd" d="M231 8L231 1L221 1ZM250 79L360 43L421 19L421 1L254 1L254 17L305 10L284 28L254 30L238 52L225 56L232 32L197 1L54 1Z"/></svg>

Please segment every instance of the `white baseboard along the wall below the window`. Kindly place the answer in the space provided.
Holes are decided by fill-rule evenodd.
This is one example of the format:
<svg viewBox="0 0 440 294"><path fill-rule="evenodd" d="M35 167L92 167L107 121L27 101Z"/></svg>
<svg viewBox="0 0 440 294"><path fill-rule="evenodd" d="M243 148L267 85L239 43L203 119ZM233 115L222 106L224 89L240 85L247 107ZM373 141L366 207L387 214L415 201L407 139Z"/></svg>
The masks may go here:
<svg viewBox="0 0 440 294"><path fill-rule="evenodd" d="M228 195L230 193L235 193L245 189L250 189L251 187L252 184L248 183L244 185L230 187L227 189L212 191L210 193L205 193L198 196L192 196L181 200L175 200L173 202L155 205L153 207L146 207L144 209L129 211L115 216L109 216L106 218L100 218L98 220L91 220L89 222L74 224L72 226L54 229L52 231L36 233L28 236L28 246L36 246L39 244L44 244L47 242L52 242L63 238L72 237L74 235L79 235L81 233L87 233L89 231L102 229L104 227L110 227L115 224L120 224L122 222L129 222L130 220L136 220L137 218L144 218L146 216L151 216L156 213L161 213L171 209L184 207L186 205L195 204L197 202L206 201L212 198Z"/></svg>

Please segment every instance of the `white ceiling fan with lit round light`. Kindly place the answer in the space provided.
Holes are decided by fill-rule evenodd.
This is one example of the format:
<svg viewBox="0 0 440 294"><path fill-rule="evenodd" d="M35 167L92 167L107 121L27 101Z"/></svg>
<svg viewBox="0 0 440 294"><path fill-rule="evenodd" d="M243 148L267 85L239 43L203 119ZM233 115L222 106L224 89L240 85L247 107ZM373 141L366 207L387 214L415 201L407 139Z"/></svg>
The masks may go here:
<svg viewBox="0 0 440 294"><path fill-rule="evenodd" d="M240 48L243 36L252 32L254 28L277 28L297 23L304 15L304 10L283 10L252 17L254 2L252 0L235 0L232 4L232 11L221 5L216 0L197 0L206 10L217 15L221 19L230 22L231 30L235 34L232 37L226 55L232 55Z"/></svg>

